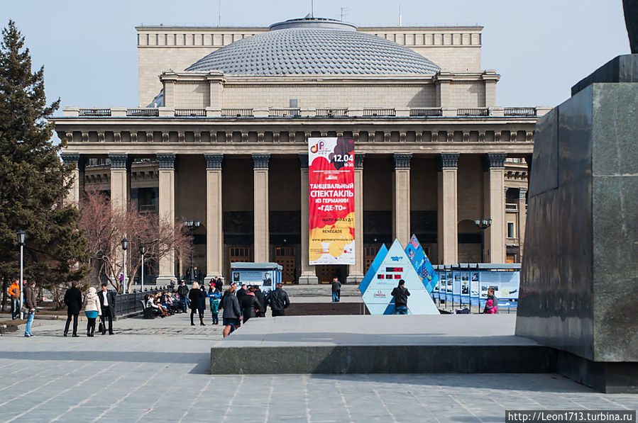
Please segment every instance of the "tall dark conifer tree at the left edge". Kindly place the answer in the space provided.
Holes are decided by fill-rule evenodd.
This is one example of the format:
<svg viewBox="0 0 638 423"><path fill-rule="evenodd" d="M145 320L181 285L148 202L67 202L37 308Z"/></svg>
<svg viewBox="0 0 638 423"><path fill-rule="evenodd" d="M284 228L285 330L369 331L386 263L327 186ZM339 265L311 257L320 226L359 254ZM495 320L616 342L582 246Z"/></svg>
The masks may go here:
<svg viewBox="0 0 638 423"><path fill-rule="evenodd" d="M25 276L45 288L82 278L77 266L86 242L79 212L63 205L72 183L60 161L64 142L52 141L46 118L60 99L47 104L44 67L31 72L31 55L13 21L0 45L0 277L18 276L16 232L26 232Z"/></svg>

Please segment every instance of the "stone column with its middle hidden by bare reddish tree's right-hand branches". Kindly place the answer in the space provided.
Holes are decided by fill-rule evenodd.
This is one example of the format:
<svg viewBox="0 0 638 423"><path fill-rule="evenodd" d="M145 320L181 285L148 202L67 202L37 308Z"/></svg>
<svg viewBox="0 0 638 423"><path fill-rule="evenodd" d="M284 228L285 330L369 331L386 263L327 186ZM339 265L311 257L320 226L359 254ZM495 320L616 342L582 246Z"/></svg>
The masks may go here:
<svg viewBox="0 0 638 423"><path fill-rule="evenodd" d="M175 222L175 154L158 154L159 198L158 212L160 220ZM175 277L175 251L160 258L158 284L164 285Z"/></svg>

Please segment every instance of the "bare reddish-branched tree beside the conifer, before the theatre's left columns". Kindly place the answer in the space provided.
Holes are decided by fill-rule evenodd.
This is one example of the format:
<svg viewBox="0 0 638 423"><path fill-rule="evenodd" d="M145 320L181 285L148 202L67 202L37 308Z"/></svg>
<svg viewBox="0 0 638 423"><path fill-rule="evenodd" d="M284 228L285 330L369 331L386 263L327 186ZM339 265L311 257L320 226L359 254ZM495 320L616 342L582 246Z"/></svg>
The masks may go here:
<svg viewBox="0 0 638 423"><path fill-rule="evenodd" d="M123 291L121 240L125 237L128 239L126 269L131 280L141 266L140 244L146 246L147 266L169 254L190 252L190 237L183 231L181 222L167 222L154 213L140 212L136 203L129 203L126 211L112 210L105 193L90 191L84 196L80 211L80 226L87 238L89 266L93 269L89 283L106 280L118 292ZM133 284L128 283L128 292L132 290Z"/></svg>

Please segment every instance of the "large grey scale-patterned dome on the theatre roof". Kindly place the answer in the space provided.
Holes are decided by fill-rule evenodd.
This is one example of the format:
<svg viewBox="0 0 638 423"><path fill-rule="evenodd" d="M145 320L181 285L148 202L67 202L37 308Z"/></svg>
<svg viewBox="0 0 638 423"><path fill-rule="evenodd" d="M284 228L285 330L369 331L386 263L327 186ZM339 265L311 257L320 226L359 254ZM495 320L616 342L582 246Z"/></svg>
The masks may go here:
<svg viewBox="0 0 638 423"><path fill-rule="evenodd" d="M292 19L221 47L187 71L221 70L231 75L434 74L441 68L384 38L341 21Z"/></svg>

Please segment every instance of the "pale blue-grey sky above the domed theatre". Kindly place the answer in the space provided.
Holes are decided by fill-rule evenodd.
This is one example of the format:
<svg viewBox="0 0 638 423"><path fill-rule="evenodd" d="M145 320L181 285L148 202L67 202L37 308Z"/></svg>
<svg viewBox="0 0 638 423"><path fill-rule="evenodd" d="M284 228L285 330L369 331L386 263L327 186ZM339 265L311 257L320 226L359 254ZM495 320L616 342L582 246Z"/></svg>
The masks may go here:
<svg viewBox="0 0 638 423"><path fill-rule="evenodd" d="M136 107L140 24L216 26L219 0L0 0L0 26L16 21L46 94L62 106ZM268 26L305 16L310 0L221 0L221 26ZM483 69L495 69L500 106L556 106L571 86L629 53L621 0L314 0L314 16L358 26L475 25ZM61 115L61 111L57 114Z"/></svg>

